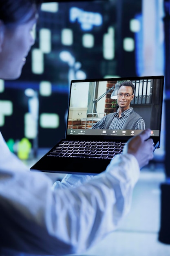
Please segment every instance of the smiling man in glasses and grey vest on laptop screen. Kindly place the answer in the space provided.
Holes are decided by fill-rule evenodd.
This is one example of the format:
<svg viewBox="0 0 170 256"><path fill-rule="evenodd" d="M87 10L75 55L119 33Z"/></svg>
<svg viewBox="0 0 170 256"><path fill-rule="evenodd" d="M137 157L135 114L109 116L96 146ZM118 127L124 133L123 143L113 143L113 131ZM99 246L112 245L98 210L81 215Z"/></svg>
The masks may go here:
<svg viewBox="0 0 170 256"><path fill-rule="evenodd" d="M130 103L134 98L135 86L129 81L119 84L117 92L117 112L110 113L94 124L91 129L145 130L144 119L137 114Z"/></svg>

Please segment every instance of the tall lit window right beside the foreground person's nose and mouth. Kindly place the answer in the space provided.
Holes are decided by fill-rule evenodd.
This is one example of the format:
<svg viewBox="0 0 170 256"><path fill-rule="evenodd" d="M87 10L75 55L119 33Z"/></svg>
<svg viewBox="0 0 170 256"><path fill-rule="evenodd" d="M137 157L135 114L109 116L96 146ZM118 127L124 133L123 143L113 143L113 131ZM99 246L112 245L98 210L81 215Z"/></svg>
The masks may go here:
<svg viewBox="0 0 170 256"><path fill-rule="evenodd" d="M34 74L44 72L44 55L40 49L32 50L32 72Z"/></svg>

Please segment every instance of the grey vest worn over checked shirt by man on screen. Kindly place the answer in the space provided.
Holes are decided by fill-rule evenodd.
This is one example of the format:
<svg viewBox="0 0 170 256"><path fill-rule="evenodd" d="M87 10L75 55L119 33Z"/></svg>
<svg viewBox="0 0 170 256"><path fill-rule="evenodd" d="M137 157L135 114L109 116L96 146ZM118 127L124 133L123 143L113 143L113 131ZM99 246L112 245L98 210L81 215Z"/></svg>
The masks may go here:
<svg viewBox="0 0 170 256"><path fill-rule="evenodd" d="M104 121L104 129L108 129L113 118L115 117L117 112L110 113L106 116ZM134 110L131 112L131 114L127 117L127 120L123 126L122 129L124 130L134 130L137 122L139 120L143 119L139 114L137 114Z"/></svg>

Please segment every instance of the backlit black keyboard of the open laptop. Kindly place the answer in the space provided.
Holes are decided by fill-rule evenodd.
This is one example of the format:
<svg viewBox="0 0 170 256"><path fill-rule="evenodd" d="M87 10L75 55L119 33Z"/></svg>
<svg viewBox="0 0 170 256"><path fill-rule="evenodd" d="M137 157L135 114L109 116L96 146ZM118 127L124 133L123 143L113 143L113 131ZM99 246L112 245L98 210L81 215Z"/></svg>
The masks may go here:
<svg viewBox="0 0 170 256"><path fill-rule="evenodd" d="M112 159L122 153L125 145L126 142L112 141L62 141L47 156Z"/></svg>

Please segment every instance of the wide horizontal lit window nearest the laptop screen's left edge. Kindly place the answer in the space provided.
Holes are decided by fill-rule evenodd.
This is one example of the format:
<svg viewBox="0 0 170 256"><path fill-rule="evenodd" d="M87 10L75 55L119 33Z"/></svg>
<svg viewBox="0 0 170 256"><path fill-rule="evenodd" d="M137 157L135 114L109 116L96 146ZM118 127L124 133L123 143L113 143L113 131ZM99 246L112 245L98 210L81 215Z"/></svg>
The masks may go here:
<svg viewBox="0 0 170 256"><path fill-rule="evenodd" d="M43 113L40 115L40 126L42 128L58 128L60 124L59 115L52 113Z"/></svg>

